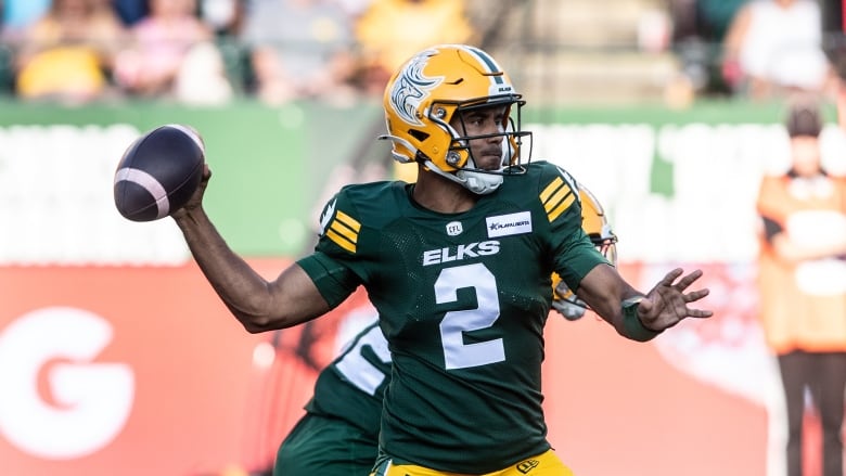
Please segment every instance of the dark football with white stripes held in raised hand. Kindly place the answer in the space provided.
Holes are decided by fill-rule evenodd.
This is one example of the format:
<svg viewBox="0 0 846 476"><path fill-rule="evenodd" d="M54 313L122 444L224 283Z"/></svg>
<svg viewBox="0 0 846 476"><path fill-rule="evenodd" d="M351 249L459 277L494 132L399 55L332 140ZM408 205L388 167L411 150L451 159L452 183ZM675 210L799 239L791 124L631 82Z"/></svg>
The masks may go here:
<svg viewBox="0 0 846 476"><path fill-rule="evenodd" d="M155 128L132 142L115 171L115 206L132 221L153 221L181 208L203 178L205 147L189 126Z"/></svg>

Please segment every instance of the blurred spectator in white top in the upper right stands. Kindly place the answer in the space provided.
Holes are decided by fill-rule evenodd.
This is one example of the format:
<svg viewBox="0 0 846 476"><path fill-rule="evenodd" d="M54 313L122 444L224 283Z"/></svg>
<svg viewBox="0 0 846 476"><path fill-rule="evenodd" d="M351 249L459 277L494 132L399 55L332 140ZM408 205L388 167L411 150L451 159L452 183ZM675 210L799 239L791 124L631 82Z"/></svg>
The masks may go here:
<svg viewBox="0 0 846 476"><path fill-rule="evenodd" d="M723 49L726 81L753 99L826 92L833 82L815 0L747 3L732 20Z"/></svg>

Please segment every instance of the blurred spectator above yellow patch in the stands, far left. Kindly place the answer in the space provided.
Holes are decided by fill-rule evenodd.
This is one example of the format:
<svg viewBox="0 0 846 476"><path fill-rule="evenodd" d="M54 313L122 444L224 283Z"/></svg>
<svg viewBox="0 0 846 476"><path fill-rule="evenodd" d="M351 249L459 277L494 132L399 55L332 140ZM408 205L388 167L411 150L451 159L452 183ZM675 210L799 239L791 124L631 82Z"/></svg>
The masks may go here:
<svg viewBox="0 0 846 476"><path fill-rule="evenodd" d="M18 97L85 102L108 92L124 34L114 12L94 0L54 0L24 31L15 64Z"/></svg>

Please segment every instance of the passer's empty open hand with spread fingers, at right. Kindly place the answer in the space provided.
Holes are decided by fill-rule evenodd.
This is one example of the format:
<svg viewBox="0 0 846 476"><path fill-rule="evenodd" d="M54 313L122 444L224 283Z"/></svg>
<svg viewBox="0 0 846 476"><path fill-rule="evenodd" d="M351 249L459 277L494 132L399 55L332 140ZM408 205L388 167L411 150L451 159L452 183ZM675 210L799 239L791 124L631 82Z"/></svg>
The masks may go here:
<svg viewBox="0 0 846 476"><path fill-rule="evenodd" d="M708 290L684 291L702 276L702 270L676 280L682 274L681 268L668 272L663 280L646 294L638 306L638 319L650 330L663 331L672 327L687 318L709 318L714 312L705 309L693 309L688 305L708 295Z"/></svg>

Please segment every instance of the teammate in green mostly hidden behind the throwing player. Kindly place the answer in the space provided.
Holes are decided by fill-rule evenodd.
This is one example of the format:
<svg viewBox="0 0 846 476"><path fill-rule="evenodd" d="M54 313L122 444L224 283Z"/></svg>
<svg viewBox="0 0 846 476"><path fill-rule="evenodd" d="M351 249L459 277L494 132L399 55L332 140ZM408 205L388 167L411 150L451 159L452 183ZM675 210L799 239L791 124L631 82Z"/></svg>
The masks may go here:
<svg viewBox="0 0 846 476"><path fill-rule="evenodd" d="M580 195L585 233L616 266L617 236L602 205L584 186ZM585 316L587 305L557 274L553 274L553 292L552 307L562 316L569 320ZM279 447L274 476L355 476L373 468L382 397L390 379L390 352L377 324L360 331L320 372L306 414Z"/></svg>

